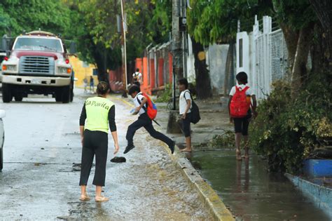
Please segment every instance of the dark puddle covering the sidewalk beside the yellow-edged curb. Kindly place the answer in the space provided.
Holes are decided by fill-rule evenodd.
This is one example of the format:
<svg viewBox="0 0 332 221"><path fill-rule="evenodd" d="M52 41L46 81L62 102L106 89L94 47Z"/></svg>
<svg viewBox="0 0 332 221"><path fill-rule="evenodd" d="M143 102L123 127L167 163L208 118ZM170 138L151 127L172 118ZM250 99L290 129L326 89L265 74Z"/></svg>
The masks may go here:
<svg viewBox="0 0 332 221"><path fill-rule="evenodd" d="M271 174L258 156L236 161L235 151L187 154L237 220L332 220L284 175Z"/></svg>

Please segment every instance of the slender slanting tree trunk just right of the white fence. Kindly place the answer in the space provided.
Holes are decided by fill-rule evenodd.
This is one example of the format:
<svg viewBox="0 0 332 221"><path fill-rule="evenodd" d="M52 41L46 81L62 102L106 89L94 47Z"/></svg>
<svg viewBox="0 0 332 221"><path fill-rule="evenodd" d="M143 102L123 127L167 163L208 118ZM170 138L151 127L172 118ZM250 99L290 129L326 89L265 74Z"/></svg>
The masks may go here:
<svg viewBox="0 0 332 221"><path fill-rule="evenodd" d="M307 57L312 43L313 24L300 29L298 45L291 72L291 96L296 98L307 74Z"/></svg>

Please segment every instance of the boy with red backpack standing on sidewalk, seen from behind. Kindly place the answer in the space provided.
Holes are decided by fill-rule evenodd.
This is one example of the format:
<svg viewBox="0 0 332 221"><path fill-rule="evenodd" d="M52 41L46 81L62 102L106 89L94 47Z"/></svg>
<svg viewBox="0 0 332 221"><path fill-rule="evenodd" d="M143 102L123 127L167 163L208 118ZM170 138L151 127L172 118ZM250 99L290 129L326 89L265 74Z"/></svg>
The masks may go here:
<svg viewBox="0 0 332 221"><path fill-rule="evenodd" d="M241 137L244 139L244 158L249 158L248 147L248 128L252 116L256 117L256 95L251 92L251 88L247 86L248 76L245 72L236 75L237 86L233 86L230 90L230 98L228 101L228 110L230 114L230 122L235 127L235 147L236 159L241 160ZM251 102L252 100L252 102Z"/></svg>

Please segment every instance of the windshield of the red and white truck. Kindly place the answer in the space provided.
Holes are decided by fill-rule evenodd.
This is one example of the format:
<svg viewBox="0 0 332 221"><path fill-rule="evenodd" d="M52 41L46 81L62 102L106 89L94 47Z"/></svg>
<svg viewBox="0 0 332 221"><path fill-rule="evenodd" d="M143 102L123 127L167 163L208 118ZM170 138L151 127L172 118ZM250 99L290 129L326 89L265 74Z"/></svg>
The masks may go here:
<svg viewBox="0 0 332 221"><path fill-rule="evenodd" d="M15 50L57 51L62 52L60 39L24 38L17 39Z"/></svg>

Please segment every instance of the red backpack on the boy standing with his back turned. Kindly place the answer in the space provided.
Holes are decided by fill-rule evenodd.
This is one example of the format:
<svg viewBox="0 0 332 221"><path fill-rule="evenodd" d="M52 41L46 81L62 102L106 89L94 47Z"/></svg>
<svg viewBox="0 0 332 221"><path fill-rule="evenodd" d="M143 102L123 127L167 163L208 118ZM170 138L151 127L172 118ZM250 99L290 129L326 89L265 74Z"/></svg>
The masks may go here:
<svg viewBox="0 0 332 221"><path fill-rule="evenodd" d="M230 116L233 118L241 118L247 116L250 108L250 100L247 100L246 91L249 89L248 86L240 88L235 86L236 91L230 101Z"/></svg>

